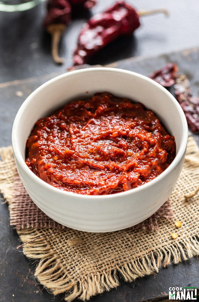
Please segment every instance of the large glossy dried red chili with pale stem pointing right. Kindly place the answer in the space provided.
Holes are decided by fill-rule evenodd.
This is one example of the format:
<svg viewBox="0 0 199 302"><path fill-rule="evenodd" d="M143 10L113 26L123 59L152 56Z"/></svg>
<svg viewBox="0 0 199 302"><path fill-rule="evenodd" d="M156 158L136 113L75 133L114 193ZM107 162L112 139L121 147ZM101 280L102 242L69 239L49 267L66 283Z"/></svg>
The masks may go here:
<svg viewBox="0 0 199 302"><path fill-rule="evenodd" d="M162 9L137 12L131 5L119 1L105 12L96 14L84 24L79 35L74 65L87 63L90 56L118 36L132 34L140 26L140 16L158 12L167 14Z"/></svg>

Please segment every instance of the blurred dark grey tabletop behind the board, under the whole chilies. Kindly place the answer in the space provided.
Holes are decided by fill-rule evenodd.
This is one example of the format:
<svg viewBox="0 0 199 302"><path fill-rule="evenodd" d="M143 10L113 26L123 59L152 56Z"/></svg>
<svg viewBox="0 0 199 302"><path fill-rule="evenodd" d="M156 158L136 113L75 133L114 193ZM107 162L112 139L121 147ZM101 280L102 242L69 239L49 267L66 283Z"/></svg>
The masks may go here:
<svg viewBox="0 0 199 302"><path fill-rule="evenodd" d="M115 0L97 0L91 14L112 5ZM100 51L89 62L108 64L131 56L151 56L198 46L198 0L128 0L138 10L166 8L169 17L162 14L141 18L132 37L121 37ZM45 2L30 11L0 12L0 82L65 72L72 64L72 53L83 23L89 17L86 11L78 14L64 33L60 55L65 64L53 63L50 54L50 36L43 31Z"/></svg>

